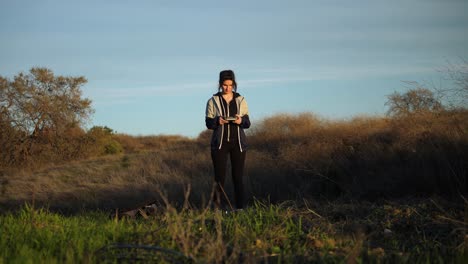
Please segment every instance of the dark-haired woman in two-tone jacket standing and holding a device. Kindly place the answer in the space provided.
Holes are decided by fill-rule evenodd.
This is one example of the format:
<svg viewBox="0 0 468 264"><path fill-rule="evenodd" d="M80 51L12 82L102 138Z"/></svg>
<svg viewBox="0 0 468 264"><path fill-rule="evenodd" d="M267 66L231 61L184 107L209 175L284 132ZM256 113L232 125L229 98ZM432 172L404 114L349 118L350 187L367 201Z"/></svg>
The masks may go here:
<svg viewBox="0 0 468 264"><path fill-rule="evenodd" d="M237 93L236 77L232 70L219 73L218 93L214 94L206 104L205 123L208 129L213 130L211 159L216 183L215 203L219 207L222 198L227 198L224 192L224 180L229 156L236 207L242 209L244 206L242 177L247 150L244 128L250 127L250 119L247 101Z"/></svg>

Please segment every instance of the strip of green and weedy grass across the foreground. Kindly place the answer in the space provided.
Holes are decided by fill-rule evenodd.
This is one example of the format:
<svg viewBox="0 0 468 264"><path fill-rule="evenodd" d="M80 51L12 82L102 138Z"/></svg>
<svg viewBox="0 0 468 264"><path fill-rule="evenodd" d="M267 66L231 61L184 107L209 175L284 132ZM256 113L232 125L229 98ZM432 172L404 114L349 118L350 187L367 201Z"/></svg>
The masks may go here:
<svg viewBox="0 0 468 264"><path fill-rule="evenodd" d="M0 263L466 263L462 219L459 205L431 199L167 206L147 219L26 205L0 215Z"/></svg>

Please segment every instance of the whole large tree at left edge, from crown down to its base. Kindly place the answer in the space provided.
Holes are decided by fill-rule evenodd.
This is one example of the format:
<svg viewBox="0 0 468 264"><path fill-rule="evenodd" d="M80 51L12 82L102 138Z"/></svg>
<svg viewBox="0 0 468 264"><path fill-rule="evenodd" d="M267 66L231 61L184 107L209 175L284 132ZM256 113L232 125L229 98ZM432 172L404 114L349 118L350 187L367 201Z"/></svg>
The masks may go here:
<svg viewBox="0 0 468 264"><path fill-rule="evenodd" d="M32 156L71 158L71 142L77 146L85 139L81 126L93 112L91 100L82 98L86 82L55 76L47 68L32 68L12 80L0 76L0 164L18 165Z"/></svg>

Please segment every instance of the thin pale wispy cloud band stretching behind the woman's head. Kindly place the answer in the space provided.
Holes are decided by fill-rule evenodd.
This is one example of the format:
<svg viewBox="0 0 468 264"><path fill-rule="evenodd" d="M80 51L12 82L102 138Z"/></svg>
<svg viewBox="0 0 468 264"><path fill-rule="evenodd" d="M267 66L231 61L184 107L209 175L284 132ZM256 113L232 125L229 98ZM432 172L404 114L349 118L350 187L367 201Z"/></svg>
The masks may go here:
<svg viewBox="0 0 468 264"><path fill-rule="evenodd" d="M430 67L411 66L357 66L357 67L321 67L317 69L300 68L257 68L252 71L258 78L239 79L243 87L262 89L267 85L287 84L291 82L312 82L327 80L360 80L366 78L383 78L398 75L431 73ZM261 73L261 74L260 74ZM141 98L156 96L190 96L208 90L215 91L216 81L195 83L155 84L140 87L107 87L94 89L92 99L96 104L131 104Z"/></svg>

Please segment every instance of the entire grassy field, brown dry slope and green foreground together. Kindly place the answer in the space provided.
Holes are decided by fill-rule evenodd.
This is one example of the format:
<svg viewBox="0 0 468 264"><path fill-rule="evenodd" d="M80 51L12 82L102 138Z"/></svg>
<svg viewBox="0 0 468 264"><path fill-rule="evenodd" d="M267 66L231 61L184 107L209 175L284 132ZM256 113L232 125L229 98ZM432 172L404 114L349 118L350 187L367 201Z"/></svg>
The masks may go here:
<svg viewBox="0 0 468 264"><path fill-rule="evenodd" d="M113 135L121 154L0 168L0 263L468 261L466 111L266 118L241 212L211 209L209 137Z"/></svg>

